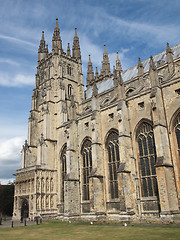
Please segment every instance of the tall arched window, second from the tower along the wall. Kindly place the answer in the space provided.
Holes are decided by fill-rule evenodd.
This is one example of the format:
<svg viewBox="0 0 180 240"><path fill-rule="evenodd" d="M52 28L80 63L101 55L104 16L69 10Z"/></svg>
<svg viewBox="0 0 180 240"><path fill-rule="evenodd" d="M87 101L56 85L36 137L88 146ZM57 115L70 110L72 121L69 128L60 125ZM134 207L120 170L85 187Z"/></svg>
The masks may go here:
<svg viewBox="0 0 180 240"><path fill-rule="evenodd" d="M86 140L83 143L81 154L83 158L83 200L89 200L89 175L92 170L92 151L91 141Z"/></svg>

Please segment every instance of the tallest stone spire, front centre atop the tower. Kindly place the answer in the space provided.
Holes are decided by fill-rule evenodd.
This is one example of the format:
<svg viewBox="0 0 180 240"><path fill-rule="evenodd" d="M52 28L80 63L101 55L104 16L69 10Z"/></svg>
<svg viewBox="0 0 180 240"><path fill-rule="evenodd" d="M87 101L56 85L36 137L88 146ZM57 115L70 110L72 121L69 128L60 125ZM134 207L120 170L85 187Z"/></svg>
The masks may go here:
<svg viewBox="0 0 180 240"><path fill-rule="evenodd" d="M56 26L54 28L53 38L52 38L52 52L59 53L62 51L62 41L60 37L60 29L58 27L58 18L56 18Z"/></svg>

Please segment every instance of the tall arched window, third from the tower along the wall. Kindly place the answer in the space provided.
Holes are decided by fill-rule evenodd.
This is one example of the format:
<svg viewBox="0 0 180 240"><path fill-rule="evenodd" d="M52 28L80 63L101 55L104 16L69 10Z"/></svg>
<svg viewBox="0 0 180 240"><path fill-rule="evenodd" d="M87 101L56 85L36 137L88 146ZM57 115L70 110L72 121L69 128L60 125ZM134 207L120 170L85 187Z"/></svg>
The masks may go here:
<svg viewBox="0 0 180 240"><path fill-rule="evenodd" d="M111 199L118 198L118 179L117 170L120 164L118 133L113 131L109 134L106 141L106 149L108 152L109 167L109 186Z"/></svg>

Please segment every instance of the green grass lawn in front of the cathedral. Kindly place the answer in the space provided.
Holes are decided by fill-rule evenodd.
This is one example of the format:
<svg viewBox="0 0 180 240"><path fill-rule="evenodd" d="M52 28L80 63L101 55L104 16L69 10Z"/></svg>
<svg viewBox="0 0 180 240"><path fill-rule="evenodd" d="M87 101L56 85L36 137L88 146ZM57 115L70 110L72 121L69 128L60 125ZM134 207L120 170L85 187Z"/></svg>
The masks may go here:
<svg viewBox="0 0 180 240"><path fill-rule="evenodd" d="M180 239L180 225L44 221L42 225L0 229L2 240L168 240Z"/></svg>

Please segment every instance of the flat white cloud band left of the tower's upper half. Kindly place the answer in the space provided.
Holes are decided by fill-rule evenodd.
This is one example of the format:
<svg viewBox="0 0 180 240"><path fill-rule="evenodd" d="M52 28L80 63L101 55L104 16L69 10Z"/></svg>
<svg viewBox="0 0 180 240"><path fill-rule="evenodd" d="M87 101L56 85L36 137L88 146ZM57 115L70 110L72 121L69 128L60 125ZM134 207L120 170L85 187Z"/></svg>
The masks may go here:
<svg viewBox="0 0 180 240"><path fill-rule="evenodd" d="M0 72L0 86L22 87L33 86L35 77L25 74L16 74L15 76Z"/></svg>

